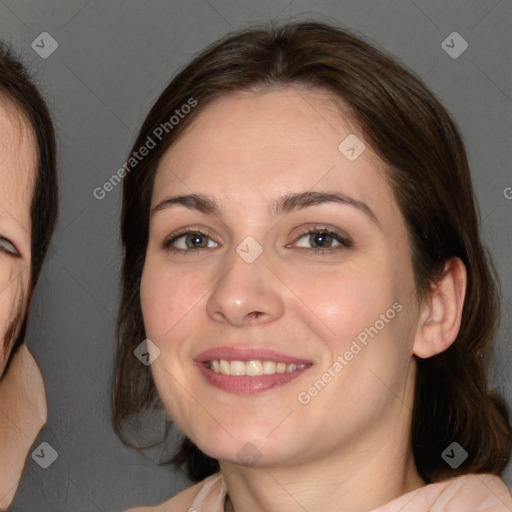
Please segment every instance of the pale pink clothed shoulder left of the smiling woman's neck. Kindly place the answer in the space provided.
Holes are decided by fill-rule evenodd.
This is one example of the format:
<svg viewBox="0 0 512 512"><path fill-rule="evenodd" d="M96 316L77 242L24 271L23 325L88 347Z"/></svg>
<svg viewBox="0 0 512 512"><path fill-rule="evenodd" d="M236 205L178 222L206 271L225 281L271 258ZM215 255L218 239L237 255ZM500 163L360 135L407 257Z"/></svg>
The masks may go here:
<svg viewBox="0 0 512 512"><path fill-rule="evenodd" d="M217 512L214 508L203 508L201 505L222 503L219 512L223 510L225 498L224 481L220 473L215 473L201 482L180 492L174 498L164 501L154 507L131 508L126 512L174 512L194 511L201 512L201 509L209 512ZM200 508L197 508L200 507Z"/></svg>

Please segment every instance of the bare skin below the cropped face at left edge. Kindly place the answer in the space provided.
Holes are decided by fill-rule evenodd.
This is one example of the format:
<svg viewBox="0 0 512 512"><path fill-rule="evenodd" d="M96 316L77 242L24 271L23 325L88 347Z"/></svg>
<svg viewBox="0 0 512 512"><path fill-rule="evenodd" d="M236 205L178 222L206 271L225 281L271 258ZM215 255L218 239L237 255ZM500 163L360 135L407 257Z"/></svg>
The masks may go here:
<svg viewBox="0 0 512 512"><path fill-rule="evenodd" d="M0 380L0 510L14 497L25 459L46 417L43 378L23 344Z"/></svg>

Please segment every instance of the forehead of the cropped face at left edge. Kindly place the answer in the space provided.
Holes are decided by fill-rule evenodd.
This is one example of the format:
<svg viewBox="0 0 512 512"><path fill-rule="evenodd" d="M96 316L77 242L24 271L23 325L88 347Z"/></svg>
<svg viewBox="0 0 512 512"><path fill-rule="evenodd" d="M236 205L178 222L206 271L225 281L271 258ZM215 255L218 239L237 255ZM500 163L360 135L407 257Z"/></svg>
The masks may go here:
<svg viewBox="0 0 512 512"><path fill-rule="evenodd" d="M32 128L19 110L0 97L0 216L29 225L37 151Z"/></svg>

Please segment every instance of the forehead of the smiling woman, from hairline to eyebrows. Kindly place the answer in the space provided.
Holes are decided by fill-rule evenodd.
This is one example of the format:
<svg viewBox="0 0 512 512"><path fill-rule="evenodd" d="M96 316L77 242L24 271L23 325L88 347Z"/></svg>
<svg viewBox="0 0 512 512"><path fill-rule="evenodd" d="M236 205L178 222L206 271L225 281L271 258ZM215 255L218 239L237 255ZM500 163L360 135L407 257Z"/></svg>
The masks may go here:
<svg viewBox="0 0 512 512"><path fill-rule="evenodd" d="M295 87L216 99L162 158L152 202L171 191L210 192L228 208L241 194L261 204L292 190L335 189L395 209L381 159L368 146L355 161L340 151L349 136L364 142L347 114L332 94Z"/></svg>

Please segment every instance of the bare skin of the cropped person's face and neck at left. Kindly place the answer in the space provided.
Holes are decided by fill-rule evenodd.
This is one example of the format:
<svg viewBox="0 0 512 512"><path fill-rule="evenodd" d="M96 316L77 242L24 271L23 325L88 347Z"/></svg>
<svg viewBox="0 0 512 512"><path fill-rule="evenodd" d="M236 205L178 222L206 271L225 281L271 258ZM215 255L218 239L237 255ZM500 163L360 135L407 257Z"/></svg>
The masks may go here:
<svg viewBox="0 0 512 512"><path fill-rule="evenodd" d="M30 203L36 145L28 122L0 101L0 509L12 501L25 458L46 422L44 383L25 345L11 354L27 308ZM9 364L8 364L9 363Z"/></svg>

